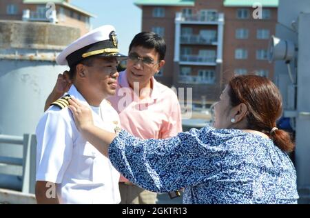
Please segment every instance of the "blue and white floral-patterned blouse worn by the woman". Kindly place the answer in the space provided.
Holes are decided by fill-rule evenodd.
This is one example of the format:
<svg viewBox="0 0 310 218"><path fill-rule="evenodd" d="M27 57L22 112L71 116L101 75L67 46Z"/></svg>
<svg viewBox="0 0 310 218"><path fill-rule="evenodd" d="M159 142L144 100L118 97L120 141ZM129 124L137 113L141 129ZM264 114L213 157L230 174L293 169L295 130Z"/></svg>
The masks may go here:
<svg viewBox="0 0 310 218"><path fill-rule="evenodd" d="M296 171L271 139L242 130L181 132L141 140L122 130L110 161L134 184L154 192L185 188L184 204L296 204Z"/></svg>

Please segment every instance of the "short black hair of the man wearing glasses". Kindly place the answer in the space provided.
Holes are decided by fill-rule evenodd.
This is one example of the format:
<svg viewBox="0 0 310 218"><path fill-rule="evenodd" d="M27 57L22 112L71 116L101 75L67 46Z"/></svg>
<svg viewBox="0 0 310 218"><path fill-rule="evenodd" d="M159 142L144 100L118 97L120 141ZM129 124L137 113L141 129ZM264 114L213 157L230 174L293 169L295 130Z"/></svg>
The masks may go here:
<svg viewBox="0 0 310 218"><path fill-rule="evenodd" d="M154 32L140 32L136 34L134 39L132 39L132 43L130 43L130 50L133 47L142 46L144 48L152 49L159 54L159 60L165 59L166 54L166 43L165 40Z"/></svg>

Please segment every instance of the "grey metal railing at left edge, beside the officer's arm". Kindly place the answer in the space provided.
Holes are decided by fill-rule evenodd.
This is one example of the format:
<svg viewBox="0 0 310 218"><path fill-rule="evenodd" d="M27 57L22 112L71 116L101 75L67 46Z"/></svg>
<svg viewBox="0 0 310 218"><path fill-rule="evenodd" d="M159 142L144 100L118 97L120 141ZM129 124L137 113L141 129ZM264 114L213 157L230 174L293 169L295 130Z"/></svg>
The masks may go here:
<svg viewBox="0 0 310 218"><path fill-rule="evenodd" d="M0 157L0 164L22 166L21 184L19 176L1 174L0 188L21 189L24 193L34 193L36 175L37 138L35 135L25 134L23 137L0 135L0 143L23 146L23 158ZM1 154L0 154L1 155Z"/></svg>

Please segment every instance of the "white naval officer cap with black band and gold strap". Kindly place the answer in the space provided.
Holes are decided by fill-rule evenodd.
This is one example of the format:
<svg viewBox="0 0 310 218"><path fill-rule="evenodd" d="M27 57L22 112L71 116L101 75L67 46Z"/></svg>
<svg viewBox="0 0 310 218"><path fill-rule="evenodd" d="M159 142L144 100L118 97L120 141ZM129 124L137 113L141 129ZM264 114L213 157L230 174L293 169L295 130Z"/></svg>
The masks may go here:
<svg viewBox="0 0 310 218"><path fill-rule="evenodd" d="M118 52L117 46L118 40L114 26L101 26L72 42L56 57L56 62L59 65L71 67L94 55L127 59L127 56Z"/></svg>

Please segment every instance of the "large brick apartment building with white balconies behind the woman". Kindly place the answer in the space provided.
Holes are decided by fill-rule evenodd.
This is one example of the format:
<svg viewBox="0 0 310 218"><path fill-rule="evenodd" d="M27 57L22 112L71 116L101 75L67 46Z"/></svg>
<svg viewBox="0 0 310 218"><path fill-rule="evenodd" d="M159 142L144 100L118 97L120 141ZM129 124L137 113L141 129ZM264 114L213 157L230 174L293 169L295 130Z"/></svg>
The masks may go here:
<svg viewBox="0 0 310 218"><path fill-rule="evenodd" d="M262 19L252 16L262 3ZM192 88L196 103L216 101L232 75L273 78L267 61L276 31L278 0L137 0L142 30L164 37L165 68L156 79Z"/></svg>

